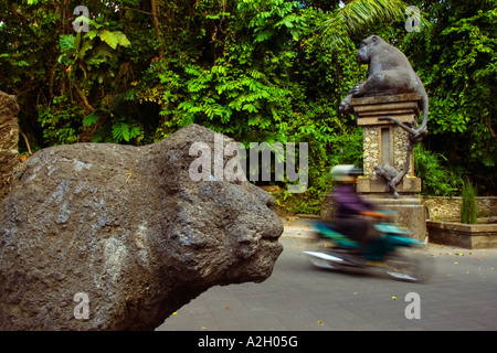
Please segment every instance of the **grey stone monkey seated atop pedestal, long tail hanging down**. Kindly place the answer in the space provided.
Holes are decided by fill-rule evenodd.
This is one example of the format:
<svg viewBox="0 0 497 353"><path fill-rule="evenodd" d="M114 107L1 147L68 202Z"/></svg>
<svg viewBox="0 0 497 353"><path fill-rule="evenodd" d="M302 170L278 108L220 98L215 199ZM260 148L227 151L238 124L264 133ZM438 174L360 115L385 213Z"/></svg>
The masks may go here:
<svg viewBox="0 0 497 353"><path fill-rule="evenodd" d="M359 82L341 101L340 109L351 111L350 98L364 96L383 96L404 93L417 93L421 96L423 120L420 127L409 127L392 117L385 117L401 126L410 133L413 143L427 135L429 97L417 74L408 57L378 35L370 35L361 42L356 53L358 63L368 64L368 79Z"/></svg>

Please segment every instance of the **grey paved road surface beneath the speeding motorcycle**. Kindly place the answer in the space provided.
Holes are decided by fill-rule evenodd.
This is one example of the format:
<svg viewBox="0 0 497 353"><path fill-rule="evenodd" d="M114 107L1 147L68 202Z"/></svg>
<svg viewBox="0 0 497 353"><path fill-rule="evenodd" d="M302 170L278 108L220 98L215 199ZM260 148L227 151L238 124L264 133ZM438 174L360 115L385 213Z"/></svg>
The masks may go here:
<svg viewBox="0 0 497 353"><path fill-rule="evenodd" d="M436 265L432 280L409 284L381 271L314 268L302 254L316 248L309 222L284 222L285 249L267 280L211 288L158 330L497 330L497 249L430 245ZM405 301L412 292L419 301ZM419 311L412 309L416 301ZM420 319L406 318L410 304L408 312Z"/></svg>

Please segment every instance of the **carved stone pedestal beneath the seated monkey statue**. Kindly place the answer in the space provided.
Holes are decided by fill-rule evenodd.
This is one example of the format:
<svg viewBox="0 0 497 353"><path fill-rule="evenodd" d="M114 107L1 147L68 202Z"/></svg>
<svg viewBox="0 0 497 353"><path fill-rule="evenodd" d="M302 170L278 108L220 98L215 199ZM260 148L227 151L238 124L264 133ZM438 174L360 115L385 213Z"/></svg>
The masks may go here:
<svg viewBox="0 0 497 353"><path fill-rule="evenodd" d="M398 172L405 165L409 133L391 120L393 117L411 124L420 116L421 97L416 94L352 98L351 105L358 126L363 128L363 171L357 191L382 210L395 211L399 224L409 227L414 237L424 240L426 234L425 206L419 196L421 179L414 175L414 157L411 156L408 174L396 185L401 199L393 199L387 182L374 172L374 167L389 163Z"/></svg>

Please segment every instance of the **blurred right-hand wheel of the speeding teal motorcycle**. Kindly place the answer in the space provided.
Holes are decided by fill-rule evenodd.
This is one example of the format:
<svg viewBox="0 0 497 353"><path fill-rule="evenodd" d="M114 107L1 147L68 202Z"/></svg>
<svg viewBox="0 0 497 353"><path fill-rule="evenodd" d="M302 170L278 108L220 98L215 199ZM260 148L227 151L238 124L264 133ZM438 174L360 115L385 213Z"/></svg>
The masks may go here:
<svg viewBox="0 0 497 353"><path fill-rule="evenodd" d="M424 249L399 249L387 259L387 275L409 282L425 282L433 275L433 257Z"/></svg>

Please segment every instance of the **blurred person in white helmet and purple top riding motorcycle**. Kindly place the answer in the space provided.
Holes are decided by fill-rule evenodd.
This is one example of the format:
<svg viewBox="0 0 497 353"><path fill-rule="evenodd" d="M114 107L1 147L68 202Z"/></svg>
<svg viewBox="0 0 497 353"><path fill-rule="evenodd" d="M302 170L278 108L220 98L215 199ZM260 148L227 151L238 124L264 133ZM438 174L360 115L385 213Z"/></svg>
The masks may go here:
<svg viewBox="0 0 497 353"><path fill-rule="evenodd" d="M362 170L343 164L331 168L330 172L339 185L331 194L337 208L335 222L329 227L359 243L360 249L363 249L366 243L376 236L373 222L363 216L379 214L374 213L377 206L356 191L357 178L362 175Z"/></svg>

